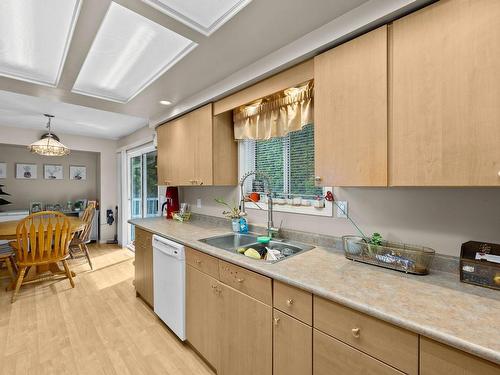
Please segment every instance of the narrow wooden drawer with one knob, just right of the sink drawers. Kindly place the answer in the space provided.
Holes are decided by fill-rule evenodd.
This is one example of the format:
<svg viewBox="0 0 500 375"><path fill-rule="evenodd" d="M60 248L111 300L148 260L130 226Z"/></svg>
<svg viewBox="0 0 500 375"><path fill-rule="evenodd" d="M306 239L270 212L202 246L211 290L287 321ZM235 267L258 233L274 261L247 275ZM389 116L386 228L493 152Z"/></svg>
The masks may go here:
<svg viewBox="0 0 500 375"><path fill-rule="evenodd" d="M312 294L279 281L274 282L273 306L312 325Z"/></svg>

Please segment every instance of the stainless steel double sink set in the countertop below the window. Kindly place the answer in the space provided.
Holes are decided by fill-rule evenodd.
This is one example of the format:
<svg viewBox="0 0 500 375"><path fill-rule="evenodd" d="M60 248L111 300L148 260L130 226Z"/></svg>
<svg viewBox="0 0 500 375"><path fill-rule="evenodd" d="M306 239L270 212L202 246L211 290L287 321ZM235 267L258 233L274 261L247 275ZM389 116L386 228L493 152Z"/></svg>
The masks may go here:
<svg viewBox="0 0 500 375"><path fill-rule="evenodd" d="M274 254L277 258L276 260L260 260L261 262L267 263L276 263L291 256L314 249L314 246L281 239L272 239L268 244L262 244L257 241L257 237L258 235L253 233L230 233L221 236L204 238L200 241L206 243L207 245L214 246L235 254L240 254L238 252L239 248L253 248L257 250L261 255L265 254L267 252L267 249L276 250L274 251ZM243 254L241 255L244 256Z"/></svg>

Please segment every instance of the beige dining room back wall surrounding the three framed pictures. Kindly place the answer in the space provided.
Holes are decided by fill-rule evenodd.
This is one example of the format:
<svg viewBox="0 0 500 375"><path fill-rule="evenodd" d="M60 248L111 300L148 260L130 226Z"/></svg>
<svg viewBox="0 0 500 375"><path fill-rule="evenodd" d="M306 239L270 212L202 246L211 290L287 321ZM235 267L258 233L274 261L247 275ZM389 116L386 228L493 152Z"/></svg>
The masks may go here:
<svg viewBox="0 0 500 375"><path fill-rule="evenodd" d="M11 196L12 203L1 206L0 210L28 209L30 201L41 201L44 204L65 204L68 200L98 199L97 196L97 164L98 154L87 151L73 151L68 156L47 157L30 153L26 146L0 144L0 162L7 163L7 178L0 179L0 184ZM16 163L37 165L36 180L16 179ZM43 178L44 164L60 164L63 166L64 179L45 180ZM77 181L69 179L70 165L84 165L87 167L87 179Z"/></svg>

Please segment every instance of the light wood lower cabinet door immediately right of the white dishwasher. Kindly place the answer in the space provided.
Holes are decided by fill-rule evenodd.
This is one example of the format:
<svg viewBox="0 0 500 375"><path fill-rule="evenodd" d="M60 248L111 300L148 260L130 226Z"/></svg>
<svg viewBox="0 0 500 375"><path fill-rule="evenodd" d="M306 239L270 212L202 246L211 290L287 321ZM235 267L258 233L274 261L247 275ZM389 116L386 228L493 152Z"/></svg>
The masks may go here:
<svg viewBox="0 0 500 375"><path fill-rule="evenodd" d="M217 280L186 266L186 336L193 347L217 368Z"/></svg>

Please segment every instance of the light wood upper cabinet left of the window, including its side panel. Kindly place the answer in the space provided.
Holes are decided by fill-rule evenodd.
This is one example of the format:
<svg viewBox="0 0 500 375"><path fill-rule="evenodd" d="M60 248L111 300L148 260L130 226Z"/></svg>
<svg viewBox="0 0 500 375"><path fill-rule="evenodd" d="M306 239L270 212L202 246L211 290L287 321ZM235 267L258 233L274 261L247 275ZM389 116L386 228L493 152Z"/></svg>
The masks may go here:
<svg viewBox="0 0 500 375"><path fill-rule="evenodd" d="M231 112L212 115L212 104L161 125L158 184L236 185L237 143Z"/></svg>

